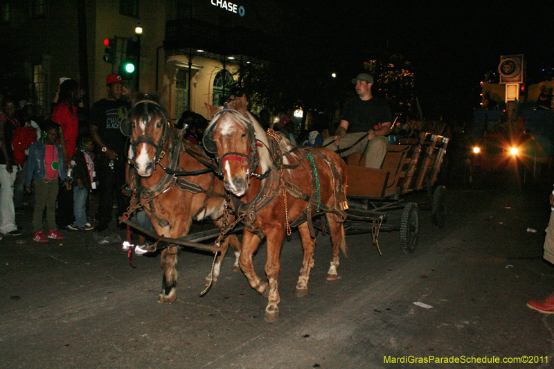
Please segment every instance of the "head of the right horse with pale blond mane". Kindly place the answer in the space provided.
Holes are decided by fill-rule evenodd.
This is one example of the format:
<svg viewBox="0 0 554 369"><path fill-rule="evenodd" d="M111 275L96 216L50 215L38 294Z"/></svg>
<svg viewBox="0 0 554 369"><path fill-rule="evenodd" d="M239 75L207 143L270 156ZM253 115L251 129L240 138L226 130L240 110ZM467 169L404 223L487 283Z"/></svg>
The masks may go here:
<svg viewBox="0 0 554 369"><path fill-rule="evenodd" d="M223 109L206 106L213 119L204 133L204 148L217 156L225 190L241 197L246 194L258 163L262 164L262 170L271 166L267 150L266 154L263 150L258 153L258 148L267 147L267 136L242 103Z"/></svg>

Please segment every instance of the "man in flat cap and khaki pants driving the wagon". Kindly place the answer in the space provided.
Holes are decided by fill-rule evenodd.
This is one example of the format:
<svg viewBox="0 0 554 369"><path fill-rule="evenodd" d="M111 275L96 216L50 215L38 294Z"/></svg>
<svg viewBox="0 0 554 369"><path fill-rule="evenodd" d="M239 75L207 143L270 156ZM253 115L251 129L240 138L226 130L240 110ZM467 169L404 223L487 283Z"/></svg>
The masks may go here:
<svg viewBox="0 0 554 369"><path fill-rule="evenodd" d="M333 151L348 149L341 156L364 152L366 167L379 169L386 154L386 135L393 125L391 107L385 100L373 96L371 75L360 73L352 83L356 84L359 98L346 103L337 134L327 138L323 146Z"/></svg>

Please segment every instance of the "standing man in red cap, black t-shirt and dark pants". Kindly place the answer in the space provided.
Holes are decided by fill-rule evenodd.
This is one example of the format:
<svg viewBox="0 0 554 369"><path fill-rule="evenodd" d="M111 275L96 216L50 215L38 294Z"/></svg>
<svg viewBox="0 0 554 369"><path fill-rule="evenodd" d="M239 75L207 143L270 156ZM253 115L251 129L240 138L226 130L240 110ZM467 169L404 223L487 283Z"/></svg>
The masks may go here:
<svg viewBox="0 0 554 369"><path fill-rule="evenodd" d="M131 109L131 103L123 100L123 80L120 75L110 74L106 78L108 97L91 107L90 127L94 142L100 147L97 174L100 186L100 204L96 218L100 224L96 231L104 231L111 221L114 197L117 199L118 215L125 212L127 198L120 191L125 185L125 141L119 129L121 119Z"/></svg>

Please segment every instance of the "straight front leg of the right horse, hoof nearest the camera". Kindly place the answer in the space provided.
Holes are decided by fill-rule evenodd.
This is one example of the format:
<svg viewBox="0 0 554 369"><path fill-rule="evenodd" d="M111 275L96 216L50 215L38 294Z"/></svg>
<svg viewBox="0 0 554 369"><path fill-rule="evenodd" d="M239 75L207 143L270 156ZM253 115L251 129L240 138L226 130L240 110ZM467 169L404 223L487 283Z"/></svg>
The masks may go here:
<svg viewBox="0 0 554 369"><path fill-rule="evenodd" d="M282 227L270 228L267 235L267 260L265 261L265 273L269 281L269 296L267 297L267 307L265 308L265 321L273 323L279 319L279 255L283 240L285 239L285 229Z"/></svg>

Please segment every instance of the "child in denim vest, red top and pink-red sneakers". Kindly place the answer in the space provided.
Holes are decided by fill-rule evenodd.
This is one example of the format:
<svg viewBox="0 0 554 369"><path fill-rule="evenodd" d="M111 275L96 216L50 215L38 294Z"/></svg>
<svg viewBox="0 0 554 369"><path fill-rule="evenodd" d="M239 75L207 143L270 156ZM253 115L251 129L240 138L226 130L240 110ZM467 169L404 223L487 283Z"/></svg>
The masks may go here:
<svg viewBox="0 0 554 369"><path fill-rule="evenodd" d="M25 190L32 192L31 184L35 184L35 211L33 213L33 240L36 242L48 242L63 240L64 237L56 230L55 210L58 191L58 178L65 181L67 190L71 190L71 184L67 177L67 169L64 163L62 145L57 143L60 136L60 126L51 123L46 128L46 135L42 141L36 141L29 147L28 168L25 173ZM42 213L46 208L46 226L48 232L44 233Z"/></svg>

